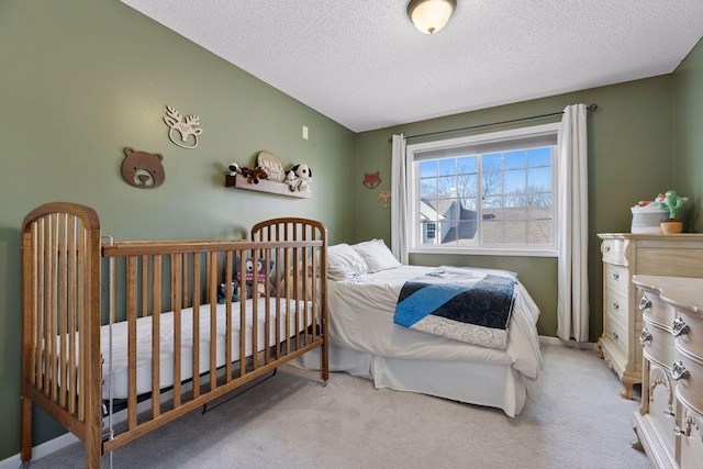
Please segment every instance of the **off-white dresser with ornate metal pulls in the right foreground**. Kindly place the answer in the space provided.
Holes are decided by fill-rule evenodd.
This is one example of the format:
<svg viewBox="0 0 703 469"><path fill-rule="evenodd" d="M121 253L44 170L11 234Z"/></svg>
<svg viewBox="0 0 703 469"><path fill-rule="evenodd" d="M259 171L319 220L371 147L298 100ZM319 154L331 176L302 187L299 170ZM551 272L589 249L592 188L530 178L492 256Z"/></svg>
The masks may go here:
<svg viewBox="0 0 703 469"><path fill-rule="evenodd" d="M637 442L658 468L703 467L703 279L635 276L643 311Z"/></svg>

